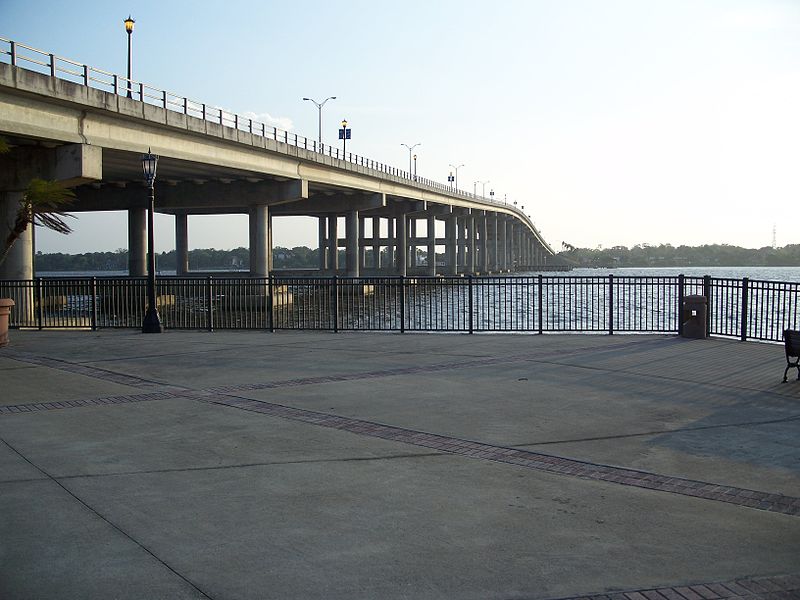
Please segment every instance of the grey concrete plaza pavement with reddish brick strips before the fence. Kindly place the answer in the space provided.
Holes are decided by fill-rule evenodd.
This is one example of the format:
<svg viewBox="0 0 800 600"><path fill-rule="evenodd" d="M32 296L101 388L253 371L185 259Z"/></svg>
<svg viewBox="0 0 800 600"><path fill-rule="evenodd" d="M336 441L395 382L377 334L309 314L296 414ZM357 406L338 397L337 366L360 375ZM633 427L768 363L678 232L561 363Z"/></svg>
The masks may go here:
<svg viewBox="0 0 800 600"><path fill-rule="evenodd" d="M780 346L11 337L0 598L800 597Z"/></svg>

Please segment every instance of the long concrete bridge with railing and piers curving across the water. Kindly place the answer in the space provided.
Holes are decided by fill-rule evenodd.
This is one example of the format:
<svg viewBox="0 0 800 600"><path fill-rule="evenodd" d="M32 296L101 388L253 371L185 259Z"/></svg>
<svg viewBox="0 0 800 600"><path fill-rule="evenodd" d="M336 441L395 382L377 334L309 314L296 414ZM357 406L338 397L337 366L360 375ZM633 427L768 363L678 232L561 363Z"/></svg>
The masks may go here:
<svg viewBox="0 0 800 600"><path fill-rule="evenodd" d="M0 156L0 228L32 178L58 180L76 194L70 212L128 212L130 275L146 271L140 157L148 148L160 155L156 211L175 216L179 275L189 271L187 217L198 214L249 216L256 276L272 270L272 219L286 215L318 219L324 274L508 272L553 256L516 206L4 38L0 135L11 146ZM426 264L417 264L417 248ZM29 228L0 279L32 279L32 256Z"/></svg>

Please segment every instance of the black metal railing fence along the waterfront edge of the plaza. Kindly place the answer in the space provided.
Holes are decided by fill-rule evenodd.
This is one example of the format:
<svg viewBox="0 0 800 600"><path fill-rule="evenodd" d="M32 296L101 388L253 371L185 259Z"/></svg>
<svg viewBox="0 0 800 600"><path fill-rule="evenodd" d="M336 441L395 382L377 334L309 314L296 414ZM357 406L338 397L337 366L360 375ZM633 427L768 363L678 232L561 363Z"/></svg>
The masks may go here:
<svg viewBox="0 0 800 600"><path fill-rule="evenodd" d="M709 335L780 341L800 283L711 277L160 277L167 329L679 333L685 296ZM139 328L144 278L0 281L15 328Z"/></svg>

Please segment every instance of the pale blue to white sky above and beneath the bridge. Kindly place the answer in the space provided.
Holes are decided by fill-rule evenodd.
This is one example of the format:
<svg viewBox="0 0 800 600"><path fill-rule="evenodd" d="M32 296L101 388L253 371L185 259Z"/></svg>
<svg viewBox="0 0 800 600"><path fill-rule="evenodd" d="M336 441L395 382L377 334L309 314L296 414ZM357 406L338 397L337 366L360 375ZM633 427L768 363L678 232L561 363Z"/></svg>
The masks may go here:
<svg viewBox="0 0 800 600"><path fill-rule="evenodd" d="M800 1L0 0L0 36L315 137L337 96L348 149L525 206L550 245L800 243ZM270 121L272 122L272 121ZM482 186L478 186L480 192ZM126 246L81 215L44 252ZM219 221L218 221L219 223ZM247 244L244 217L190 218L190 246ZM157 221L157 246L174 244ZM316 246L309 220L276 245Z"/></svg>

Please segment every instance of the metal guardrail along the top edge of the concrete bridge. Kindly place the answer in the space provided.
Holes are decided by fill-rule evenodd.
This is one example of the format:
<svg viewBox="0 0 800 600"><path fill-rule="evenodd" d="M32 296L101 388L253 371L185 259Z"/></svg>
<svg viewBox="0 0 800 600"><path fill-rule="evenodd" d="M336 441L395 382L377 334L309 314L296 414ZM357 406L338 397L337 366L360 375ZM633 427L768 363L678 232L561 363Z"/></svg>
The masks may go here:
<svg viewBox="0 0 800 600"><path fill-rule="evenodd" d="M481 203L490 204L498 207L503 207L506 210L513 211L518 218L522 219L533 230L539 241L549 250L555 254L552 248L544 241L541 232L536 229L533 222L528 216L516 206L512 206L493 198L486 198L478 194L470 194L462 190L455 189L453 186L443 184L441 182L420 177L393 167L386 163L382 163L371 158L360 156L339 150L330 144L321 144L315 139L309 139L297 133L292 133L286 130L279 129L272 125L254 121L249 117L243 117L232 111L227 111L219 106L209 105L204 102L192 100L180 94L162 90L160 88L128 79L122 75L117 75L109 71L104 71L96 67L85 65L67 58L63 58L39 50L26 44L21 44L13 40L0 37L0 59L8 61L11 65L27 68L29 70L37 71L64 79L72 83L92 87L104 92L112 93L117 96L128 96L133 100L138 100L158 106L164 110L170 110L185 114L187 116L196 117L210 123L232 127L239 131L251 133L253 135L261 136L264 138L272 139L277 142L282 142L287 145L292 145L304 150L315 152L323 156L328 156L337 160L343 160L353 165L369 168L392 177L405 180L407 183L426 187L428 189L443 192L446 194L458 196L460 198L477 200Z"/></svg>

